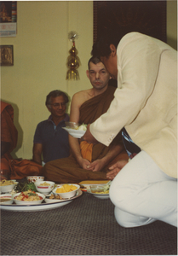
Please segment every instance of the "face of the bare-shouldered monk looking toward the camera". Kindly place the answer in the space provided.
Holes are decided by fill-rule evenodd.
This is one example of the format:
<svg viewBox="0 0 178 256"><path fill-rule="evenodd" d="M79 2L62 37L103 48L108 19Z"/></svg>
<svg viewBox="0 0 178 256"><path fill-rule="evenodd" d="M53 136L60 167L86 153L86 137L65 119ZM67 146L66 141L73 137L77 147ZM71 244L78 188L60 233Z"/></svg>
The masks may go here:
<svg viewBox="0 0 178 256"><path fill-rule="evenodd" d="M102 62L94 64L89 62L89 70L87 70L87 76L90 83L97 90L101 90L108 85L109 79L111 79L109 73L106 71L106 67Z"/></svg>

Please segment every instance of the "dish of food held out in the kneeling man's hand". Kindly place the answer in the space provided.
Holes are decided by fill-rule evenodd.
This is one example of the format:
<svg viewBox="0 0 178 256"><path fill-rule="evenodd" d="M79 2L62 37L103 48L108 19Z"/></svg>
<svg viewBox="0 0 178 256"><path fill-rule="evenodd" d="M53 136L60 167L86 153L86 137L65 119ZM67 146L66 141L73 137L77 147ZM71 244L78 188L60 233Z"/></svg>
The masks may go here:
<svg viewBox="0 0 178 256"><path fill-rule="evenodd" d="M87 125L80 125L75 122L66 122L66 127L62 127L66 130L72 137L81 138L87 131Z"/></svg>

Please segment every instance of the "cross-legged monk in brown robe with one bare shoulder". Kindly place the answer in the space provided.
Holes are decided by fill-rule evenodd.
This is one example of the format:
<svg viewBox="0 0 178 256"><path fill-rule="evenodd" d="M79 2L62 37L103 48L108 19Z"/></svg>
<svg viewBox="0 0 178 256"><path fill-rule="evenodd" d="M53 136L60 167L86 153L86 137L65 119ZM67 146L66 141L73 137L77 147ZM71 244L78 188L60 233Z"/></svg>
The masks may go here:
<svg viewBox="0 0 178 256"><path fill-rule="evenodd" d="M98 58L89 60L87 76L93 88L78 91L72 96L70 121L91 124L106 113L115 87L109 85L110 74ZM43 176L55 183L80 183L83 180L107 180L106 173L118 160L128 160L121 132L109 147L101 143L89 144L69 135L72 154L64 159L49 161L43 166Z"/></svg>

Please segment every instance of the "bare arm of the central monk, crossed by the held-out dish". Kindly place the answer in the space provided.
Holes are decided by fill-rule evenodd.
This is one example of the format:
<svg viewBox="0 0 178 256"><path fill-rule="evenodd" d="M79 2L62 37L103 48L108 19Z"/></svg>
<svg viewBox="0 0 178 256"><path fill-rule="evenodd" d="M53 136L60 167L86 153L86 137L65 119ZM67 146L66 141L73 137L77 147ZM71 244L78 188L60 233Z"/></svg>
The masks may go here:
<svg viewBox="0 0 178 256"><path fill-rule="evenodd" d="M82 105L82 103L83 103L82 92L78 92L72 97L71 113L70 113L71 122L76 122L76 123L79 122L79 118L80 118L79 108ZM82 154L80 153L80 145L78 142L78 138L75 138L69 135L69 144L70 144L70 148L72 149L72 154L74 155L75 159L78 161L78 164L83 169L87 169L87 166L89 166L90 162L89 160L83 159Z"/></svg>

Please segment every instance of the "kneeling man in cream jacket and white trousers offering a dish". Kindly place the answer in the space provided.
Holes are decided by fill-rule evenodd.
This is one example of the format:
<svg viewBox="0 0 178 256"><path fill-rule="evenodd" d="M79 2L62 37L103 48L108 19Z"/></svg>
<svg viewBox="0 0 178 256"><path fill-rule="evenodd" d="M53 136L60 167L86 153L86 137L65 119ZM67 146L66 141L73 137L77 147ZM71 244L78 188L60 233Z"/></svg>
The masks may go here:
<svg viewBox="0 0 178 256"><path fill-rule="evenodd" d="M177 226L177 53L156 38L130 32L118 45L97 41L92 54L118 79L118 89L83 139L108 146L124 127L141 148L108 173L113 178L118 172L110 189L118 224L158 219Z"/></svg>

